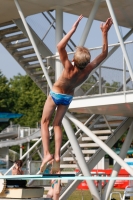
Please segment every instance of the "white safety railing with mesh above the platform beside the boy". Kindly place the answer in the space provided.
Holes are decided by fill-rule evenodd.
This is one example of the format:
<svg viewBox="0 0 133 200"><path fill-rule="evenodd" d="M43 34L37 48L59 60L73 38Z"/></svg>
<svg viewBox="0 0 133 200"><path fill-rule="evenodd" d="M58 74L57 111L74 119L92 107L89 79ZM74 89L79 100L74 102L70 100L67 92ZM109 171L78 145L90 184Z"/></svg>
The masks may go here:
<svg viewBox="0 0 133 200"><path fill-rule="evenodd" d="M124 42L127 50L132 50L133 41ZM120 43L111 44L109 45L109 51L111 51L115 47L119 47ZM89 48L92 60L101 53L102 46ZM68 57L72 56L74 52L68 52ZM106 94L118 91L129 91L133 90L133 84L130 78L129 70L126 69L125 61L118 48L116 51L118 54L117 60L115 57L114 63L115 66L112 66L112 59L109 58L107 61L105 60L104 65L98 66L98 68L94 69L92 73L88 76L87 80L76 88L81 88L84 92L84 95L95 95L95 94ZM114 56L114 55L113 55ZM58 54L53 56L46 57L47 60L49 59L56 59L59 57ZM132 57L129 57L132 60ZM110 60L111 59L111 60ZM71 60L71 58L70 58ZM119 67L118 67L119 66Z"/></svg>

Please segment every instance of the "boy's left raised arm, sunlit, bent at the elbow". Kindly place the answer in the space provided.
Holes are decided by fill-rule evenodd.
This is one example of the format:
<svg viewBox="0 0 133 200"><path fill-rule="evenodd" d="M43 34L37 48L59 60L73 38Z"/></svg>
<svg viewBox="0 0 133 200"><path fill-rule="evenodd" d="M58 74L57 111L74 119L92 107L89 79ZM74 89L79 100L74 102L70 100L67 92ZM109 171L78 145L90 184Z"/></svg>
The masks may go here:
<svg viewBox="0 0 133 200"><path fill-rule="evenodd" d="M63 39L57 45L57 49L58 49L58 52L60 55L60 60L64 67L65 67L65 62L68 61L67 52L65 50L66 45L67 45L69 39L71 38L71 36L73 35L73 33L76 31L77 26L82 18L83 18L83 16L80 15L78 20L73 24L71 30L63 37Z"/></svg>

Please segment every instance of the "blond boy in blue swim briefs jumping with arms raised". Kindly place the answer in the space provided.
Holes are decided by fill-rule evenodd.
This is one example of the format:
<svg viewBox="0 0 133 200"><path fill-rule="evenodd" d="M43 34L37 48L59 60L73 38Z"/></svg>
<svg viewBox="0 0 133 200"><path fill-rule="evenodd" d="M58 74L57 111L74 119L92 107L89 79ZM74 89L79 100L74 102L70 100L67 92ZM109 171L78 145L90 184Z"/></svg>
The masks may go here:
<svg viewBox="0 0 133 200"><path fill-rule="evenodd" d="M52 114L57 108L53 121L53 128L55 133L55 154L52 171L54 173L60 168L60 148L62 143L61 122L73 99L74 89L87 79L90 72L96 68L108 54L107 36L108 31L113 23L111 18L108 18L106 23L102 23L100 26L103 38L103 48L102 53L99 56L90 62L91 56L89 50L85 47L77 47L73 57L74 65L72 65L72 63L68 60L68 55L65 47L73 33L76 31L77 26L82 18L83 16L80 15L78 20L72 26L72 29L57 45L60 60L64 66L64 70L59 79L54 83L43 109L41 120L41 135L44 149L44 159L40 167L40 173L43 173L47 163L53 159L53 155L51 155L49 151L48 130Z"/></svg>

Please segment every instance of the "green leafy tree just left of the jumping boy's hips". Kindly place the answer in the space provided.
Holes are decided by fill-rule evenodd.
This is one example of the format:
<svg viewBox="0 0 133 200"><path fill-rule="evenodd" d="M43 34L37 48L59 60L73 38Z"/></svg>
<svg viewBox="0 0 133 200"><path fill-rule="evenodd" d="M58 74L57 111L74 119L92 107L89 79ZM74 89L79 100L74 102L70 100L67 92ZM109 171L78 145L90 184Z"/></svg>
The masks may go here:
<svg viewBox="0 0 133 200"><path fill-rule="evenodd" d="M37 85L27 75L19 74L10 80L10 91L14 94L12 112L21 113L21 119L15 119L14 123L21 126L36 127L36 123L40 122L45 94L37 87Z"/></svg>

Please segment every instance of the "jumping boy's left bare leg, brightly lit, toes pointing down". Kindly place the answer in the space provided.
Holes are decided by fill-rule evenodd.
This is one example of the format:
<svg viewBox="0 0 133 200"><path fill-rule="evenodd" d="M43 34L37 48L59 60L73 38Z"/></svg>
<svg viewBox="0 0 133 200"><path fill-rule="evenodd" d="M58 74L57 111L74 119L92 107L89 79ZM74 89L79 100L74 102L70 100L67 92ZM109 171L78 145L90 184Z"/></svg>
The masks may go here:
<svg viewBox="0 0 133 200"><path fill-rule="evenodd" d="M44 171L47 162L53 158L53 156L49 152L49 123L55 108L56 105L53 102L51 96L49 95L44 105L42 119L41 119L41 136L42 136L43 151L44 151L44 159L40 167L41 172Z"/></svg>

